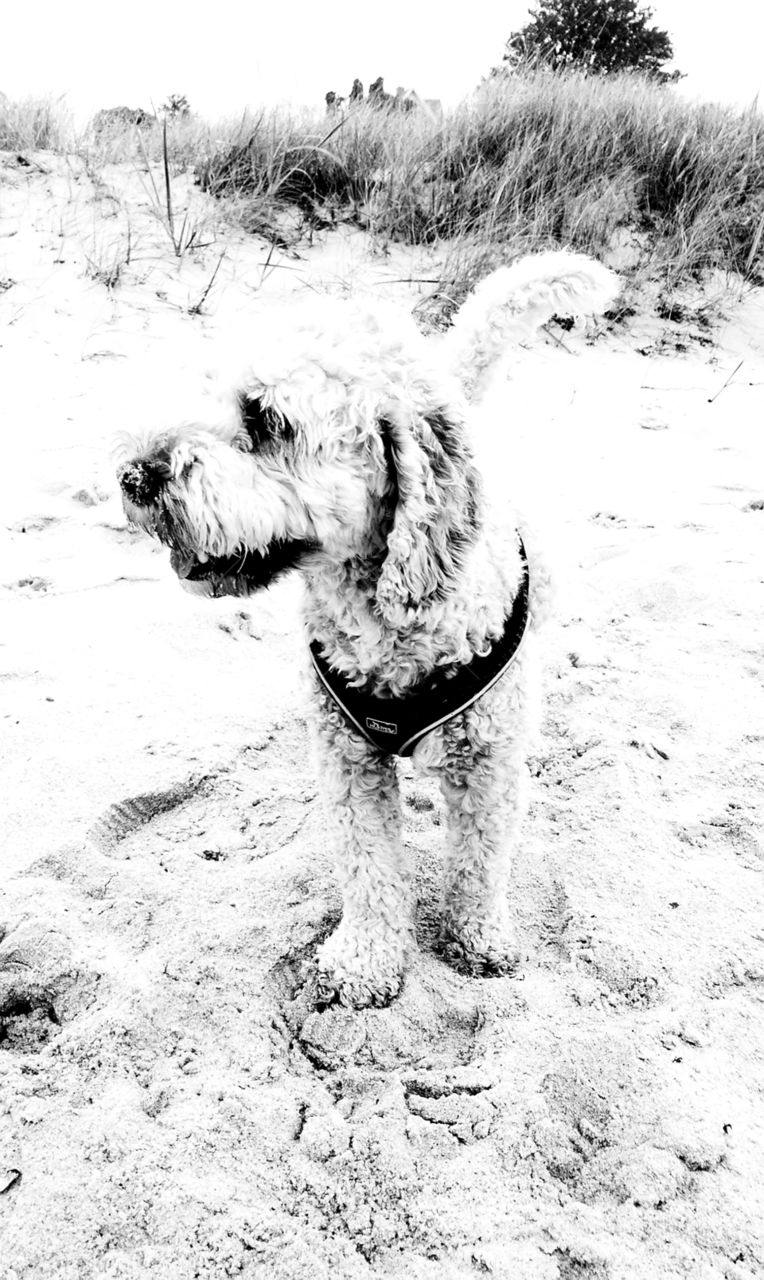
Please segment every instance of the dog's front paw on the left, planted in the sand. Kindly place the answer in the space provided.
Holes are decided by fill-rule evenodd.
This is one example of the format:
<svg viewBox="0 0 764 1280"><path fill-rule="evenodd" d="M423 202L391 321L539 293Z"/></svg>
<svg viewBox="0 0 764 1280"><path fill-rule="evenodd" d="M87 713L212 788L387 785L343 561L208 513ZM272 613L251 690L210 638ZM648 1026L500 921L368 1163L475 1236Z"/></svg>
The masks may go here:
<svg viewBox="0 0 764 1280"><path fill-rule="evenodd" d="M403 984L407 938L343 920L317 951L316 1004L380 1007Z"/></svg>

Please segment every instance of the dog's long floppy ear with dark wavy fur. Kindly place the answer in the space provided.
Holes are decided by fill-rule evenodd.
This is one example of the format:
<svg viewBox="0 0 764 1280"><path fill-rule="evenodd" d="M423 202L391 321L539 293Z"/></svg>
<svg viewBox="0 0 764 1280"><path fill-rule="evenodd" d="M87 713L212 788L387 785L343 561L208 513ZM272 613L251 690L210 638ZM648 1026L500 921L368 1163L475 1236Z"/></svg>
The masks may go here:
<svg viewBox="0 0 764 1280"><path fill-rule="evenodd" d="M376 603L386 622L403 626L456 585L480 530L480 479L461 422L444 412L395 408L380 420L380 433L395 509Z"/></svg>

